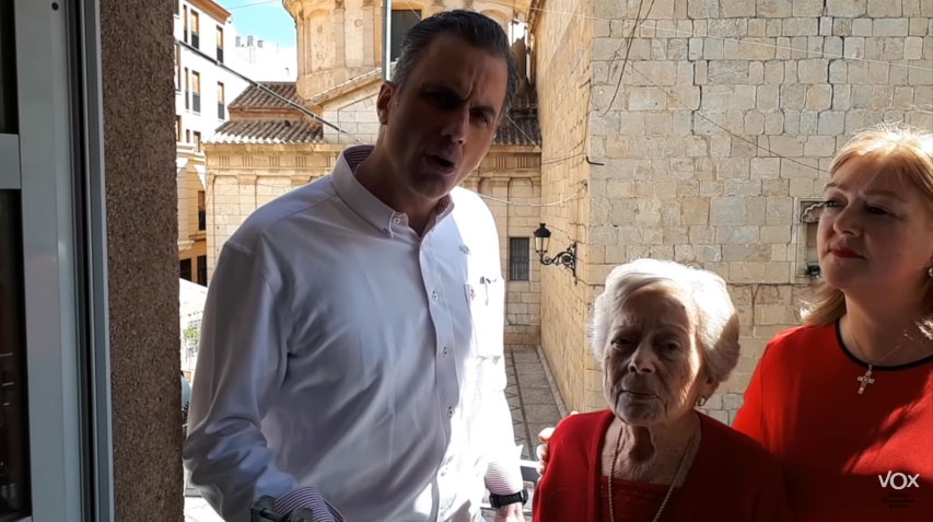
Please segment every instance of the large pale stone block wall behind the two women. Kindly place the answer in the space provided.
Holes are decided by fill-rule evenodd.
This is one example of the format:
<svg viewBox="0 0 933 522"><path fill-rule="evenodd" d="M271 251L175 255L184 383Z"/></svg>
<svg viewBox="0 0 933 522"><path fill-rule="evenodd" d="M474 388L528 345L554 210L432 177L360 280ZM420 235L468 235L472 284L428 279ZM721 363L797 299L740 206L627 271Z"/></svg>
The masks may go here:
<svg viewBox="0 0 933 522"><path fill-rule="evenodd" d="M564 3L547 8L572 9ZM657 0L622 74L638 4L594 0L579 9L595 20L544 14L536 31L544 199L567 194L556 184L573 178L547 163L579 120L580 103L560 95L590 78L568 56L575 49L592 48L587 150L605 164L590 166L582 223L593 293L549 270L544 350L570 407L604 407L598 367L573 356L585 351L575 324L584 314L565 303L592 302L608 270L637 257L713 270L740 309L744 355L707 409L732 420L767 341L798 324L815 227L801 214L819 198L833 152L877 123L933 127L933 2ZM543 219L573 230L559 211Z"/></svg>

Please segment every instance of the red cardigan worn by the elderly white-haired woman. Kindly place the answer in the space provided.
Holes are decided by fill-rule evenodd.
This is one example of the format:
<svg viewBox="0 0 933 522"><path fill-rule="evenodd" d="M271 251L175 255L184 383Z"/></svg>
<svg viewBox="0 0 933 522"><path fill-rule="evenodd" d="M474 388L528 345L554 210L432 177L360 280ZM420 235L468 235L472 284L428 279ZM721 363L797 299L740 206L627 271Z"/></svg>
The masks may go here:
<svg viewBox="0 0 933 522"><path fill-rule="evenodd" d="M747 437L700 416L702 439L684 485L662 521L769 522L786 520L780 464ZM609 520L600 454L611 410L563 419L550 439L547 471L535 491L536 522ZM667 486L613 480L616 522L650 521Z"/></svg>

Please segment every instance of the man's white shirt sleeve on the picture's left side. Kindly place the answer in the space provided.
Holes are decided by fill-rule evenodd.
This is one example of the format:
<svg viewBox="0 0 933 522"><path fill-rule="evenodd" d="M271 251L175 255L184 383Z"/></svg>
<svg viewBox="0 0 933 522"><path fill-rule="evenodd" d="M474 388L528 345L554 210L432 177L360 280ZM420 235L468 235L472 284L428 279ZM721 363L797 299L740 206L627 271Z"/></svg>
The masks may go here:
<svg viewBox="0 0 933 522"><path fill-rule="evenodd" d="M183 456L191 483L230 522L249 521L260 497L289 500L299 490L259 428L285 375L287 314L278 299L253 254L228 243L205 304ZM326 504L313 489L277 507ZM314 520L335 519L326 510Z"/></svg>

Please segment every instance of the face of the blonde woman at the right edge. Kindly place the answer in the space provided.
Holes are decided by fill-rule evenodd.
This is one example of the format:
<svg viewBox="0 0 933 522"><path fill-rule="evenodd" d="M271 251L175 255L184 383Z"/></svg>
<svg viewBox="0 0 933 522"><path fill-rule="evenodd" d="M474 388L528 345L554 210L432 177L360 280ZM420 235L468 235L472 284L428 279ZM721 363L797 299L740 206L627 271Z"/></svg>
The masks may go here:
<svg viewBox="0 0 933 522"><path fill-rule="evenodd" d="M847 293L919 292L933 263L933 201L883 166L853 158L826 188L819 266L826 282Z"/></svg>

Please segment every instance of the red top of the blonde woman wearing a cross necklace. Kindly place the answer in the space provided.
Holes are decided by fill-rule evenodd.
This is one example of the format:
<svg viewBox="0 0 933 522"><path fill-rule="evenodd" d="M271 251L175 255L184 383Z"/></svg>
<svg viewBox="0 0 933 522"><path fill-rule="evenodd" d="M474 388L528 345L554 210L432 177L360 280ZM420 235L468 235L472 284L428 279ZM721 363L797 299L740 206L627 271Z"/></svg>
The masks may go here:
<svg viewBox="0 0 933 522"><path fill-rule="evenodd" d="M866 369L835 325L781 333L734 427L783 462L802 521L933 521L933 357L859 395Z"/></svg>

